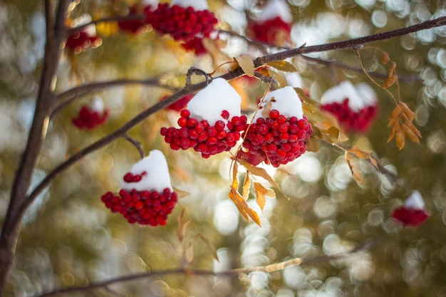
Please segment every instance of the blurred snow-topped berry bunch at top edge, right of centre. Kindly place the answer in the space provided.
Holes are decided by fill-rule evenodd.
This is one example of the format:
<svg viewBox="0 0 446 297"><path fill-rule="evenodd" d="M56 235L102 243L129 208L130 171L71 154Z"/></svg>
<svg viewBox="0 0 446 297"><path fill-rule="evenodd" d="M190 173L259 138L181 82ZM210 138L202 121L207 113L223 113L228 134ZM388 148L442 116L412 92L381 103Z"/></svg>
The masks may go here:
<svg viewBox="0 0 446 297"><path fill-rule="evenodd" d="M259 18L250 22L248 30L258 41L282 45L290 41L292 21L288 4L284 0L271 0Z"/></svg>

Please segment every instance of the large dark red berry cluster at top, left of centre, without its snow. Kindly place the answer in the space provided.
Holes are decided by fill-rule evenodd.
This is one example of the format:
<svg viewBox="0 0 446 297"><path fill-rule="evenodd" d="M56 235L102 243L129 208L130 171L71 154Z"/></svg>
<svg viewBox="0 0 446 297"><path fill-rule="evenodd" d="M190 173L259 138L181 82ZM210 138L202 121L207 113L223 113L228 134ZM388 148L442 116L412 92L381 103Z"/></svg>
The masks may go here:
<svg viewBox="0 0 446 297"><path fill-rule="evenodd" d="M209 37L218 23L208 10L195 11L192 7L158 4L154 11L146 11L146 23L156 31L170 34L177 41L189 42L195 37Z"/></svg>

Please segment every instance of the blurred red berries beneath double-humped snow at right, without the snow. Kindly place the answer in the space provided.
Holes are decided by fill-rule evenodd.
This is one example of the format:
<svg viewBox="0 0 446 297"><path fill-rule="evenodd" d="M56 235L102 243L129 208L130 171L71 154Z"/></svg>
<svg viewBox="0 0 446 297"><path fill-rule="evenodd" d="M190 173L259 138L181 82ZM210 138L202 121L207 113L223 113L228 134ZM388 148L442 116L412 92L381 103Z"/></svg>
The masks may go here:
<svg viewBox="0 0 446 297"><path fill-rule="evenodd" d="M346 98L342 103L330 103L321 105L321 110L326 110L336 116L339 124L348 131L366 132L378 113L376 105L365 106L359 111L353 111Z"/></svg>

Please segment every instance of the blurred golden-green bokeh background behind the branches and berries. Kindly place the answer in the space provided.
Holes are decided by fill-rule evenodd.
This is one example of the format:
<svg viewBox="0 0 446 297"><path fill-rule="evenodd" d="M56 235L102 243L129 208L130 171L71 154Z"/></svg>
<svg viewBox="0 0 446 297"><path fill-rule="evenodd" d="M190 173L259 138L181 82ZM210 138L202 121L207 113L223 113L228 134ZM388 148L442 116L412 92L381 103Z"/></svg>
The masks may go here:
<svg viewBox="0 0 446 297"><path fill-rule="evenodd" d="M44 51L43 1L0 2L0 209L6 213L11 183L19 162L34 100ZM446 15L444 1L426 0L289 0L294 14L291 33L296 46L307 46L390 31ZM135 1L85 0L72 18L93 19L125 14ZM224 30L243 33L249 0L209 1ZM255 13L255 9L250 11ZM262 55L237 37L225 36L222 52L196 58L178 43L154 31L132 36L118 32L115 24L96 28L103 37L99 48L76 56L63 56L56 91L82 83L115 78L160 78L181 88L191 66L212 71L229 57L242 53ZM100 196L117 191L120 179L139 158L125 140L85 157L56 179L26 213L18 241L14 268L6 295L34 296L65 286L86 285L110 277L179 267L182 248L177 239L177 216L185 209L192 232L203 234L217 247L219 262L209 247L195 242L190 267L222 271L266 265L294 257L311 259L334 255L369 243L336 261L313 262L276 273L255 272L241 280L228 277L174 275L110 286L120 296L446 296L446 28L434 28L401 38L373 43L390 53L402 78L401 99L415 111L422 134L420 145L408 142L399 151L386 143L388 116L395 106L385 92L375 88L380 114L368 135L350 135L348 145L373 150L388 170L398 173L411 189L395 188L383 174L363 162L358 166L365 182L353 181L343 152L320 143L290 165L269 172L281 185L277 199L268 199L261 213L262 227L239 217L227 199L229 155L202 160L195 152L171 151L159 129L175 123L176 114L161 111L130 131L145 152L160 149L170 165L172 183L188 193L180 199L167 226L128 224L105 209ZM380 53L361 51L369 71L385 73ZM359 67L351 50L310 55ZM311 98L341 80L368 81L363 73L335 65L326 66L295 58ZM420 80L412 78L419 77ZM265 85L232 82L244 97L244 107L254 108ZM393 93L395 88L390 89ZM113 87L75 100L58 113L48 131L37 182L56 165L86 145L120 127L171 90L157 86ZM95 97L110 109L108 123L93 132L71 124L81 105ZM240 174L243 177L243 173ZM408 190L425 198L431 217L416 229L404 228L390 214L402 204ZM254 205L253 205L254 207ZM95 290L79 296L110 296ZM75 294L76 296L76 294Z"/></svg>

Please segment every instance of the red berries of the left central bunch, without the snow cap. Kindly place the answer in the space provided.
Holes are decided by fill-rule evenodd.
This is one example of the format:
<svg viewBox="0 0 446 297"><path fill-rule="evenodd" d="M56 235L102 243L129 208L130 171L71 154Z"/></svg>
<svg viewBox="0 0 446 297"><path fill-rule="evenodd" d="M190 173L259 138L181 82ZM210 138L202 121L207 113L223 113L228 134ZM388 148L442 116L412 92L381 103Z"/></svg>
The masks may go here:
<svg viewBox="0 0 446 297"><path fill-rule="evenodd" d="M207 120L190 118L190 111L187 109L182 110L180 116L177 122L180 128L161 128L165 142L170 144L172 150L187 150L192 147L206 159L211 155L231 150L240 139L240 133L248 126L245 115L236 115L229 120L227 110L222 112L222 119L227 120L227 123L217 120L214 125L209 125Z"/></svg>

